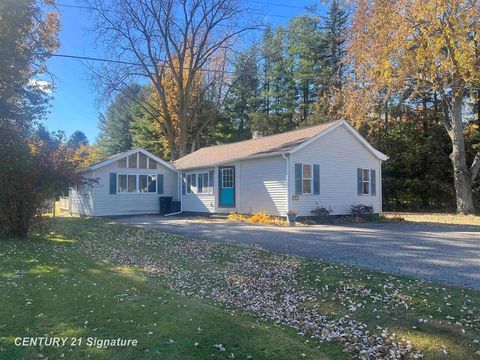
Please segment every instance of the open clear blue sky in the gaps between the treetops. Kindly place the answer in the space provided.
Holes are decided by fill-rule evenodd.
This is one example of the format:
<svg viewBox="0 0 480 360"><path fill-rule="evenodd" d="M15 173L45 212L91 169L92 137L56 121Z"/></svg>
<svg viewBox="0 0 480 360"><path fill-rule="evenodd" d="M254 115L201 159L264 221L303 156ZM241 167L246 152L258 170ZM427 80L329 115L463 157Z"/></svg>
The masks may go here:
<svg viewBox="0 0 480 360"><path fill-rule="evenodd" d="M248 0L247 0L248 1ZM265 14L264 21L273 26L288 22L305 13L297 7L319 4L318 0L250 0L249 6ZM72 0L57 0L58 5L75 5ZM78 3L77 3L78 4ZM80 56L104 57L101 48L95 48L94 35L87 31L91 26L89 14L82 9L58 7L61 13L61 47L58 53ZM272 16L274 15L274 16ZM82 130L93 143L98 135L98 115L102 108L97 103L97 93L89 81L89 70L79 60L51 58L49 71L55 76L54 99L44 124L53 130L63 130L69 136Z"/></svg>

